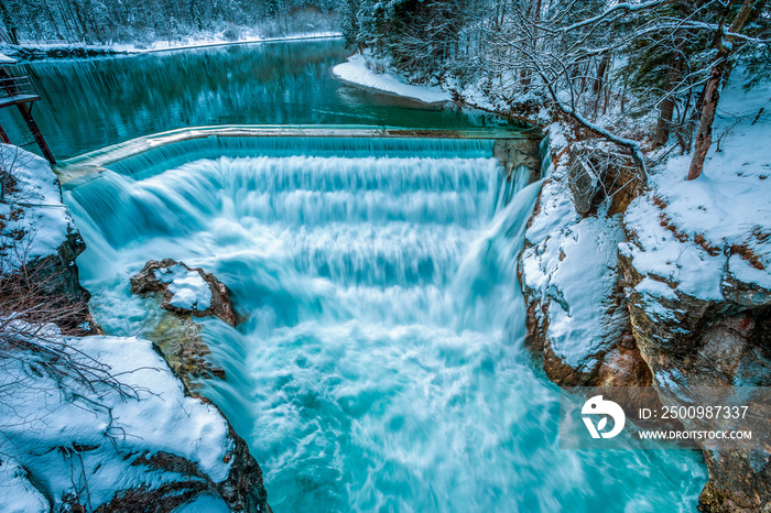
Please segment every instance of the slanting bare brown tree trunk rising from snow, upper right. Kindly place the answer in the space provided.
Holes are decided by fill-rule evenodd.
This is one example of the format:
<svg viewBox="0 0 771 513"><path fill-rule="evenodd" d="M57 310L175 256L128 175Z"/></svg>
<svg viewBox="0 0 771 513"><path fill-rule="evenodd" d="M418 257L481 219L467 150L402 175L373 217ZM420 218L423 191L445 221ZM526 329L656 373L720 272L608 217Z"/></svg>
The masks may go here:
<svg viewBox="0 0 771 513"><path fill-rule="evenodd" d="M734 23L731 23L728 32L735 34L741 32L747 19L752 13L756 2L757 0L745 0L745 3L734 19ZM707 78L707 83L704 85L704 105L702 106L702 118L698 122L698 134L696 135L694 156L691 160L691 168L688 170L688 179L698 178L698 175L702 174L702 170L704 168L704 160L713 142L713 122L715 121L717 102L720 100L720 83L723 81L728 57L731 54L735 43L734 37L725 36L725 40L727 40L726 42L730 43L725 44L723 26L720 26L718 31L719 48L715 57L715 64L713 64L713 68L709 72L709 78Z"/></svg>

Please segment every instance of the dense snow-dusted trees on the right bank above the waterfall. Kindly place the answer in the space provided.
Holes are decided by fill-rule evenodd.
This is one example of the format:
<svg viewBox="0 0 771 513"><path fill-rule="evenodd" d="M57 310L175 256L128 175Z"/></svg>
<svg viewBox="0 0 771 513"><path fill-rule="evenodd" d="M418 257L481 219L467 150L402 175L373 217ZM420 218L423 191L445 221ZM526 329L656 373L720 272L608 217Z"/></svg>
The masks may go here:
<svg viewBox="0 0 771 513"><path fill-rule="evenodd" d="M742 67L746 88L771 75L764 0L347 0L341 23L349 44L416 81L458 92L473 84L509 113L551 106L627 146L638 165L643 137L653 149L672 138L694 152L691 178L731 72ZM654 132L636 133L644 121L629 120L651 116Z"/></svg>

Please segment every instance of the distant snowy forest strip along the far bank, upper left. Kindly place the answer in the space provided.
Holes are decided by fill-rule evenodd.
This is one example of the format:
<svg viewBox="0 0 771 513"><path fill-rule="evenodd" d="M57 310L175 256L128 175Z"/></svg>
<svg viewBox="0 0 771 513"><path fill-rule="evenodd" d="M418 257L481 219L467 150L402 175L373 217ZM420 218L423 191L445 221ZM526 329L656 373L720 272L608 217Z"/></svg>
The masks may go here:
<svg viewBox="0 0 771 513"><path fill-rule="evenodd" d="M3 0L1 37L24 43L152 43L221 34L238 41L321 32L336 0Z"/></svg>

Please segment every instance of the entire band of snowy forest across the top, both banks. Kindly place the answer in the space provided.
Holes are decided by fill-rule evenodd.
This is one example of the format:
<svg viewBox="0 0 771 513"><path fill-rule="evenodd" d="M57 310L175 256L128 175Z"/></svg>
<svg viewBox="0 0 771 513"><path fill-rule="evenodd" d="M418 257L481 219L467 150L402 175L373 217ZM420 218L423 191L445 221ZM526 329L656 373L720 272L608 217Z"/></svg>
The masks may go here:
<svg viewBox="0 0 771 513"><path fill-rule="evenodd" d="M765 0L4 0L0 10L11 44L337 30L415 83L466 99L471 86L509 114L554 107L638 164L640 134L628 120L655 116L650 144L672 138L693 151L692 177L712 142L720 85L737 65L748 88L771 75Z"/></svg>

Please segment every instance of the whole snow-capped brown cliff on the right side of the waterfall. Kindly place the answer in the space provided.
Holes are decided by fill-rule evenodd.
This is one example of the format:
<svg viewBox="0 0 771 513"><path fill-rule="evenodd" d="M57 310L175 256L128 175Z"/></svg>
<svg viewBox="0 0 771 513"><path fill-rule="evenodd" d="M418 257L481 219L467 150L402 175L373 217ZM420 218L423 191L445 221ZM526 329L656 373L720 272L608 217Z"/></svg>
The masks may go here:
<svg viewBox="0 0 771 513"><path fill-rule="evenodd" d="M765 179L762 168L684 183L675 159L648 188L609 198L599 181L576 179L580 144L552 139L553 173L520 258L528 342L549 378L588 386L771 384L771 208L762 192L748 193ZM748 207L727 214L737 198ZM768 404L753 406L771 418ZM704 454L710 481L702 511L768 511L768 451Z"/></svg>

